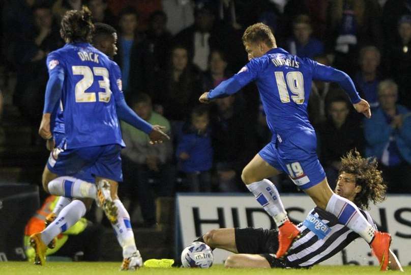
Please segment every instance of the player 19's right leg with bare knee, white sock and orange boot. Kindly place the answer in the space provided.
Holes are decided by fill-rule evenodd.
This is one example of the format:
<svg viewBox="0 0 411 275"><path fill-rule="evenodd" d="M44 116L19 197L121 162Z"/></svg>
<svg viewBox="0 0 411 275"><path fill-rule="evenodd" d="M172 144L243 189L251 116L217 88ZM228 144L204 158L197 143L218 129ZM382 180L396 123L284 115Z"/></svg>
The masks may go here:
<svg viewBox="0 0 411 275"><path fill-rule="evenodd" d="M374 255L378 258L380 269L387 269L391 244L390 234L376 231L353 202L338 196L331 190L327 178L304 191L319 208L333 213L340 224L363 237L371 245Z"/></svg>

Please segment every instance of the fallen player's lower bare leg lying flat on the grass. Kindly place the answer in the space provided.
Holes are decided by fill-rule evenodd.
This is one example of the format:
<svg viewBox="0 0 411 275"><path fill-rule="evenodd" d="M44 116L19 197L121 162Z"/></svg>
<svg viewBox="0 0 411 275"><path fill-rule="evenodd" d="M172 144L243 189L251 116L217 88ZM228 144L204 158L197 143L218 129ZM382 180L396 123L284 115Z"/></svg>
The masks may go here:
<svg viewBox="0 0 411 275"><path fill-rule="evenodd" d="M268 260L258 254L234 254L224 262L226 268L270 268Z"/></svg>

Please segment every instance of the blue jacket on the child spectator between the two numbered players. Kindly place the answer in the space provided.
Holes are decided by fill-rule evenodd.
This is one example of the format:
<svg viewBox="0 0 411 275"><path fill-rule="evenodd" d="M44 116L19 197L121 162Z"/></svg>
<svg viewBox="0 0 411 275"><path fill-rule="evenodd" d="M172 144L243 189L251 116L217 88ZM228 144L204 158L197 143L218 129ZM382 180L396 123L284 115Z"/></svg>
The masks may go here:
<svg viewBox="0 0 411 275"><path fill-rule="evenodd" d="M198 134L193 129L184 131L175 154L179 159L182 152L190 155L186 160L180 159L181 170L185 173L208 171L213 166L213 147L211 146L210 129Z"/></svg>

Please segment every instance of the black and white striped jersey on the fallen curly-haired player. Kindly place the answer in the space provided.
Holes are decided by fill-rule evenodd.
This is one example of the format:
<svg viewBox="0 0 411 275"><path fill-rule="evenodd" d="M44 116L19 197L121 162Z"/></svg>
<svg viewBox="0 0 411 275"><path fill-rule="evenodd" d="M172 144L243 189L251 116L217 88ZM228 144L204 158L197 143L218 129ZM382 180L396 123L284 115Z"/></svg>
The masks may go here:
<svg viewBox="0 0 411 275"><path fill-rule="evenodd" d="M376 228L371 215L360 210ZM287 266L311 266L331 258L359 237L348 227L338 223L337 217L318 207L312 209L298 225L301 238L295 241L286 257Z"/></svg>

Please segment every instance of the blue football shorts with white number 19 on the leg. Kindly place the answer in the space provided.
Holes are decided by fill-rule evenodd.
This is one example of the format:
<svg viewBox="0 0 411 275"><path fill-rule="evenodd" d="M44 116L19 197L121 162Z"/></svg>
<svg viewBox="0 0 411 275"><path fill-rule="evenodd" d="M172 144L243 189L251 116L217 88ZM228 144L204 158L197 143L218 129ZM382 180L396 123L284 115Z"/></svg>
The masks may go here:
<svg viewBox="0 0 411 275"><path fill-rule="evenodd" d="M287 173L300 188L308 189L326 178L326 173L318 161L317 138L311 130L299 130L277 135L261 151L259 156L279 171Z"/></svg>

